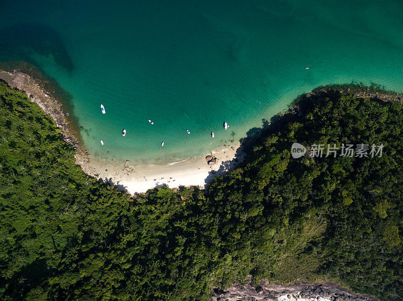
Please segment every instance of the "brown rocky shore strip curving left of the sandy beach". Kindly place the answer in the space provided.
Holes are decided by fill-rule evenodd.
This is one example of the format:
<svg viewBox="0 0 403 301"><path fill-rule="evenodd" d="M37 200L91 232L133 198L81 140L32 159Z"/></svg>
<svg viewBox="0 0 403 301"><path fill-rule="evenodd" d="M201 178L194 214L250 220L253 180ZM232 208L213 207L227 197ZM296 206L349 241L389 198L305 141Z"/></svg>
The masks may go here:
<svg viewBox="0 0 403 301"><path fill-rule="evenodd" d="M64 113L62 104L55 99L50 92L46 92L39 83L30 75L20 72L7 72L0 70L0 79L3 79L10 87L24 91L31 102L35 102L46 114L48 114L63 136L63 140L70 143L76 150L75 159L83 170L94 175L90 168L86 167L89 162L88 151L84 148L79 132L72 127L69 113Z"/></svg>

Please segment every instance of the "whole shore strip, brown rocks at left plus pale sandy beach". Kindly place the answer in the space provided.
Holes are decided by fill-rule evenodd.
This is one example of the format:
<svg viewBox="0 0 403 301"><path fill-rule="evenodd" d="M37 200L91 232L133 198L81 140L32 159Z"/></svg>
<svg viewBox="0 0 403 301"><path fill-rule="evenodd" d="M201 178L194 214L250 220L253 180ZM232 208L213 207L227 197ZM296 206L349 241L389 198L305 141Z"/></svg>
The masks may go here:
<svg viewBox="0 0 403 301"><path fill-rule="evenodd" d="M212 151L217 158L214 165L208 165L205 156L185 158L177 162L168 162L164 165L141 164L131 165L126 161L107 161L101 158L91 158L84 147L80 133L76 133L69 120L69 113L63 112L63 107L57 99L33 79L29 74L14 71L0 70L0 79L3 79L12 88L24 91L31 102L35 102L46 114L50 115L63 140L70 143L76 153L76 163L82 170L98 180L117 185L117 189L126 190L130 194L144 193L154 187L168 186L200 186L204 188L217 175L232 170L239 164L245 153L240 143L232 143L224 149Z"/></svg>

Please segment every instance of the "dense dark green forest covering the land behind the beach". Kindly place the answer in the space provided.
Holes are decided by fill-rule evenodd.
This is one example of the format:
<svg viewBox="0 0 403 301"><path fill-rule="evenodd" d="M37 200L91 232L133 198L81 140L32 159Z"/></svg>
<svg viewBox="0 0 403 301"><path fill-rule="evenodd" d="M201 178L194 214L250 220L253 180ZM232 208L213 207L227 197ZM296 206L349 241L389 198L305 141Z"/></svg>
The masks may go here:
<svg viewBox="0 0 403 301"><path fill-rule="evenodd" d="M208 300L248 275L402 299L403 105L331 89L295 104L207 189L132 197L0 82L0 299ZM294 142L384 147L295 159Z"/></svg>

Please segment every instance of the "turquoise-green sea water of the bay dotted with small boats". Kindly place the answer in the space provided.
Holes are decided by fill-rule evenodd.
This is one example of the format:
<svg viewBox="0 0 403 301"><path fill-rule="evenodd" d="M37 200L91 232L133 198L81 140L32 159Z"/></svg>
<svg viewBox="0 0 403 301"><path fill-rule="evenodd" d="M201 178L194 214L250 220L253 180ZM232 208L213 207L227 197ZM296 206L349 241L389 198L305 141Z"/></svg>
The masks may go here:
<svg viewBox="0 0 403 301"><path fill-rule="evenodd" d="M6 0L0 60L29 60L71 93L92 156L163 163L245 137L318 85L403 91L401 16L397 0Z"/></svg>

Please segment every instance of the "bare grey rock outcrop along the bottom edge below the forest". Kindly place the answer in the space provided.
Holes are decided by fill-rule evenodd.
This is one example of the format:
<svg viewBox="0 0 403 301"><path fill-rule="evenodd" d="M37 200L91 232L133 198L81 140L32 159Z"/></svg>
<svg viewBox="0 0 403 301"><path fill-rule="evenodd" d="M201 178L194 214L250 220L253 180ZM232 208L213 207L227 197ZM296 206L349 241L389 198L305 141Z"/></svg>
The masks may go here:
<svg viewBox="0 0 403 301"><path fill-rule="evenodd" d="M331 300L331 301L378 301L378 299L353 293L332 282L300 283L292 285L268 284L260 281L253 286L233 284L226 290L215 288L211 301L278 301L281 300Z"/></svg>

